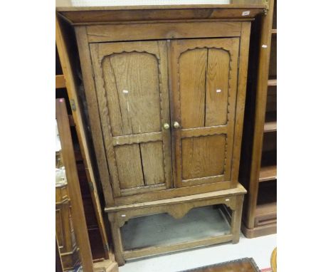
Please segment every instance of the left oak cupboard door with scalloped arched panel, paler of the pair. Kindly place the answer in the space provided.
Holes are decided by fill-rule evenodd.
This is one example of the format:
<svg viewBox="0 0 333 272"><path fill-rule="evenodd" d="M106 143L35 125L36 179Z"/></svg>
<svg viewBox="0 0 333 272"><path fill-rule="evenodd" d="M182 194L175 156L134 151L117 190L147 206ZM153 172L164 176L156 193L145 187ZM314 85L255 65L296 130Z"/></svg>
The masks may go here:
<svg viewBox="0 0 333 272"><path fill-rule="evenodd" d="M90 52L115 197L169 188L166 42L94 43Z"/></svg>

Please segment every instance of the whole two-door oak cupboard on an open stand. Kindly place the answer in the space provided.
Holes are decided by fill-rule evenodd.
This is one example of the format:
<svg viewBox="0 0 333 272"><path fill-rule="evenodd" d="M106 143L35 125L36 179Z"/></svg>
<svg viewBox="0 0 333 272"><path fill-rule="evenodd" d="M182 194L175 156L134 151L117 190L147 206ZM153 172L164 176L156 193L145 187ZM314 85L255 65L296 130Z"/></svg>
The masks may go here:
<svg viewBox="0 0 333 272"><path fill-rule="evenodd" d="M75 27L115 256L237 243L250 24L263 4L58 8ZM126 250L131 218L226 204L231 232Z"/></svg>

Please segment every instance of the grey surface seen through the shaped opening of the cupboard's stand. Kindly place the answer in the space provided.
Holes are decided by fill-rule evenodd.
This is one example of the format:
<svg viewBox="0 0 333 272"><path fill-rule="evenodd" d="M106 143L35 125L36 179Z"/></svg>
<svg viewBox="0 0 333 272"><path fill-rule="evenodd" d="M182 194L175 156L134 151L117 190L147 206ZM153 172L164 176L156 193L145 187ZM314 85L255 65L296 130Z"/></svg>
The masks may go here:
<svg viewBox="0 0 333 272"><path fill-rule="evenodd" d="M213 206L195 208L181 219L155 214L130 219L121 228L125 250L184 243L230 234L226 218Z"/></svg>

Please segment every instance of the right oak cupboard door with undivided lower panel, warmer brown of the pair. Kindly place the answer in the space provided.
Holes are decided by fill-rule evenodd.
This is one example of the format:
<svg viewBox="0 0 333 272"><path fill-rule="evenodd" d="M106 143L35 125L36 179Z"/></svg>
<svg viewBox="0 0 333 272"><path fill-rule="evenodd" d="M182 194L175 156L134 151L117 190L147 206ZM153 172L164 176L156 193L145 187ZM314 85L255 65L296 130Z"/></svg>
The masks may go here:
<svg viewBox="0 0 333 272"><path fill-rule="evenodd" d="M171 41L177 187L231 179L239 38Z"/></svg>

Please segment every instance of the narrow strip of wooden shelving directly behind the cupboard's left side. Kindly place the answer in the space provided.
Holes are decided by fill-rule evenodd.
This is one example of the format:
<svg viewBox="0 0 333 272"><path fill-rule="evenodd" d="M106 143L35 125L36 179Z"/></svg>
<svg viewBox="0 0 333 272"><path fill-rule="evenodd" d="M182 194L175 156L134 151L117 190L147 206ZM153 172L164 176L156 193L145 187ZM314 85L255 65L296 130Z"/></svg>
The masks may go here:
<svg viewBox="0 0 333 272"><path fill-rule="evenodd" d="M107 242L100 204L102 199L97 193L98 187L95 181L98 176L94 171L93 152L90 149L86 127L83 125L85 120L82 108L78 106L80 103L78 99L80 79L75 72L75 56L73 56L75 43L68 39L70 31L73 30L56 18L56 97L63 98L67 105L67 111L70 113L68 115L70 135L85 212L85 224L88 229L90 250L94 262L93 271L115 272L118 271L118 268Z"/></svg>

